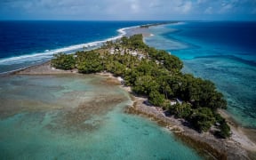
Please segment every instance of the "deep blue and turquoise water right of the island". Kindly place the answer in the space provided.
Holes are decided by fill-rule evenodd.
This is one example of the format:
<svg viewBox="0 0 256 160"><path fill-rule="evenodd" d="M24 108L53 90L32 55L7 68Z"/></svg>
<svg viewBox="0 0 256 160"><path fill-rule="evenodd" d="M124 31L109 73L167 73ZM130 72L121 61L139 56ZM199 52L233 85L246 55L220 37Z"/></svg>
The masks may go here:
<svg viewBox="0 0 256 160"><path fill-rule="evenodd" d="M183 72L212 80L229 115L256 129L256 22L185 21L148 32L147 44L178 56Z"/></svg>

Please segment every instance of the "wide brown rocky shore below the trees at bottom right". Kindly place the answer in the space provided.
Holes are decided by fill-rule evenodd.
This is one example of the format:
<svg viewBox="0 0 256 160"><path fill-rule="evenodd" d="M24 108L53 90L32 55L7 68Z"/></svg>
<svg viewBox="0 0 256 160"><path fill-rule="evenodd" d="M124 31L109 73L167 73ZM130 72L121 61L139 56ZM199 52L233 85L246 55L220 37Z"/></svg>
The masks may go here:
<svg viewBox="0 0 256 160"><path fill-rule="evenodd" d="M231 132L233 132L231 138L227 140L217 139L210 132L199 133L189 128L184 125L186 121L183 119L176 119L174 116L165 116L162 108L148 106L144 102L147 100L145 98L132 95L132 99L133 105L127 108L127 113L145 116L150 120L156 121L157 124L173 132L188 146L196 148L199 154L212 156L213 159L251 159L250 157L255 154L253 154L253 151L256 149L255 144L252 146L251 144L253 143L247 138L246 134L236 131L236 128L231 128ZM234 136L236 139L234 139ZM245 141L244 137L246 138ZM243 143L241 144L241 142ZM209 158L212 159L211 157Z"/></svg>

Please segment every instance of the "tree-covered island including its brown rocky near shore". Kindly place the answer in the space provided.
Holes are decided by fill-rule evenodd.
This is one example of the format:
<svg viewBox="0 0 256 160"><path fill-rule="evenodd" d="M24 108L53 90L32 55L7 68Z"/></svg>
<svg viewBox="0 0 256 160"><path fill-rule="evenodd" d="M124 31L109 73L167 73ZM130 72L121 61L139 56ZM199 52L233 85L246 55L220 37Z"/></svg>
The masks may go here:
<svg viewBox="0 0 256 160"><path fill-rule="evenodd" d="M182 61L143 42L142 35L123 36L92 51L57 53L52 68L116 77L131 92L127 113L148 116L189 145L217 159L246 159L247 152L230 137L220 109L227 101L209 81L181 72Z"/></svg>

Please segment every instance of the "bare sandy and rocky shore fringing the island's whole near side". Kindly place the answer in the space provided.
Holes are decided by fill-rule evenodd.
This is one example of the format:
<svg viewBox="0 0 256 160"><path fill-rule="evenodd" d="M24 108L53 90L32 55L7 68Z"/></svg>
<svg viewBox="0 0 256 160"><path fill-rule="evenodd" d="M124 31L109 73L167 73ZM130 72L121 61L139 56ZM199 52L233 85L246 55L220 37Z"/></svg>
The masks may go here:
<svg viewBox="0 0 256 160"><path fill-rule="evenodd" d="M77 70L60 70L50 66L50 61L16 71L10 75L58 75L58 74L78 74ZM207 159L251 159L255 158L256 145L250 140L246 132L236 125L229 118L228 124L231 127L232 136L227 140L217 139L211 133L198 133L195 130L184 125L186 122L182 119L176 119L173 116L165 116L162 108L148 106L146 98L138 97L132 94L131 87L121 85L120 80L111 73L97 73L95 75L108 77L108 83L117 84L131 96L132 106L125 109L125 113L138 116L145 116L157 124L164 126L170 132L173 132L178 139L189 147L196 149L197 153L204 155ZM222 111L223 112L223 111ZM221 113L221 115L224 113ZM226 115L228 117L228 115ZM224 116L226 118L226 116Z"/></svg>

